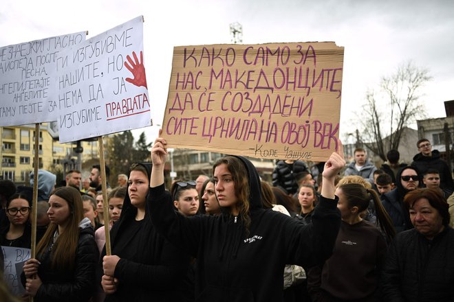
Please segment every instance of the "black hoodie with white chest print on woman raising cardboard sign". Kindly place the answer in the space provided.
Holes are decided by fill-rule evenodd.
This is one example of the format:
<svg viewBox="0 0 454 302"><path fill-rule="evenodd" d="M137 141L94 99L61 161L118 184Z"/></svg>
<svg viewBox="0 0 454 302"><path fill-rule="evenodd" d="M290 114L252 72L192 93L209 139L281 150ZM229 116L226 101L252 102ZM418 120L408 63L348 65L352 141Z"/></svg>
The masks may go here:
<svg viewBox="0 0 454 302"><path fill-rule="evenodd" d="M241 219L221 216L186 218L173 211L164 184L151 188L151 220L169 241L197 258L195 301L282 301L285 264L308 268L327 259L340 227L335 200L321 198L312 224L262 209L260 178L248 159L250 232Z"/></svg>

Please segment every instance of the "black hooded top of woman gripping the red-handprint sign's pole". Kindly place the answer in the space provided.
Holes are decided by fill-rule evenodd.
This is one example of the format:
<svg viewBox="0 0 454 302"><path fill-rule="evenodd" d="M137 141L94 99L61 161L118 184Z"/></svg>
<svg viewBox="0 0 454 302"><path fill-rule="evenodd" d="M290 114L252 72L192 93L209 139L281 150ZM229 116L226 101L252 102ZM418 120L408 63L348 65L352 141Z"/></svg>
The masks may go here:
<svg viewBox="0 0 454 302"><path fill-rule="evenodd" d="M151 164L141 163L151 175ZM147 198L152 194L149 193ZM140 231L127 237L131 221L136 219L137 208L131 205L127 194L123 202L120 219L110 231L112 255L118 255L114 277L118 278L118 288L114 294L107 295L105 301L180 301L180 283L186 276L189 257L158 234L150 219L149 208L145 213ZM124 242L137 246L132 258L122 257L118 245ZM102 257L100 257L98 277L102 277Z"/></svg>

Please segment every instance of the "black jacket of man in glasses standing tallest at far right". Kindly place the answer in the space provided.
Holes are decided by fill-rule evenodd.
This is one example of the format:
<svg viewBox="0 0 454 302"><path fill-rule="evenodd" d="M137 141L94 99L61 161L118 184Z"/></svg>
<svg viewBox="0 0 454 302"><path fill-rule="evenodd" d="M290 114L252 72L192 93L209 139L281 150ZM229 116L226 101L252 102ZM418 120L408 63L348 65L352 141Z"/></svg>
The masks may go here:
<svg viewBox="0 0 454 302"><path fill-rule="evenodd" d="M440 159L440 152L438 150L432 150L432 156L424 156L421 153L413 156L413 167L417 167L421 173L421 176L429 169L435 169L440 172L440 187L442 189L448 189L454 191L454 181L449 170L446 161Z"/></svg>

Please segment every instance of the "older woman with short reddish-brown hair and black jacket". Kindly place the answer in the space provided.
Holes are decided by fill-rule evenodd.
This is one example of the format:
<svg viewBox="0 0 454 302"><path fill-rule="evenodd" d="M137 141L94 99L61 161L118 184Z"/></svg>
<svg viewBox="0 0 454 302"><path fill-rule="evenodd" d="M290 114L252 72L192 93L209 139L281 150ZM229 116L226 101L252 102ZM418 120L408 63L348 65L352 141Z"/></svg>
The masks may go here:
<svg viewBox="0 0 454 302"><path fill-rule="evenodd" d="M454 230L440 191L415 189L404 198L414 229L399 233L382 270L384 301L454 300Z"/></svg>

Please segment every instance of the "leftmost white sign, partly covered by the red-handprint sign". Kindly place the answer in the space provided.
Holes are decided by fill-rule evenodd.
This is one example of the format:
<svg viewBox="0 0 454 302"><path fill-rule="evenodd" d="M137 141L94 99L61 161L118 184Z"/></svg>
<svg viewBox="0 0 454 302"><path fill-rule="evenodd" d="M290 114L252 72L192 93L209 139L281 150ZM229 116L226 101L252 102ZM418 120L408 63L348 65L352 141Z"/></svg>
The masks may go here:
<svg viewBox="0 0 454 302"><path fill-rule="evenodd" d="M85 36L78 32L0 48L0 126L56 121L55 60Z"/></svg>

